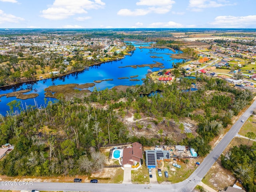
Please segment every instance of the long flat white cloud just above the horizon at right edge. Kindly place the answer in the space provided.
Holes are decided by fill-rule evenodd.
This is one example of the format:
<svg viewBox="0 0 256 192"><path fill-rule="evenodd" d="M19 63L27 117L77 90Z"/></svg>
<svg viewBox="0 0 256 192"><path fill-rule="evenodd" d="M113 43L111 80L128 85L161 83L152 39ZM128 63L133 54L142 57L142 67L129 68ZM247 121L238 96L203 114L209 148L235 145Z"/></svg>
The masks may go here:
<svg viewBox="0 0 256 192"><path fill-rule="evenodd" d="M256 26L256 15L218 16L210 24L218 28L254 28Z"/></svg>

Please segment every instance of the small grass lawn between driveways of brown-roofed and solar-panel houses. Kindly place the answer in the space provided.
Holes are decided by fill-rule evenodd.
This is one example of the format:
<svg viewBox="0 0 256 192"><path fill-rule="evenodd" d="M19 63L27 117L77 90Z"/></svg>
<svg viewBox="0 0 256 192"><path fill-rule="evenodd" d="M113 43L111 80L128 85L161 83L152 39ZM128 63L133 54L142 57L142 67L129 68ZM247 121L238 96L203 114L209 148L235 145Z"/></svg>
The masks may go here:
<svg viewBox="0 0 256 192"><path fill-rule="evenodd" d="M133 184L148 184L149 174L148 168L142 165L138 170L132 170L132 183Z"/></svg>

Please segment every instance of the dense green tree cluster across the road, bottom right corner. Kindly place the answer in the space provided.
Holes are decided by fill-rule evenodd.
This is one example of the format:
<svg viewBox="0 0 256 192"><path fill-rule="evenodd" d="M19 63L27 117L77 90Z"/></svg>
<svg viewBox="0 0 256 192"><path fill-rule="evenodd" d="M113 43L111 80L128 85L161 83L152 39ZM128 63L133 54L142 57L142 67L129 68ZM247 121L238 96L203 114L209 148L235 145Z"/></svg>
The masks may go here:
<svg viewBox="0 0 256 192"><path fill-rule="evenodd" d="M256 142L252 146L234 146L221 155L222 165L233 172L248 192L256 191Z"/></svg>

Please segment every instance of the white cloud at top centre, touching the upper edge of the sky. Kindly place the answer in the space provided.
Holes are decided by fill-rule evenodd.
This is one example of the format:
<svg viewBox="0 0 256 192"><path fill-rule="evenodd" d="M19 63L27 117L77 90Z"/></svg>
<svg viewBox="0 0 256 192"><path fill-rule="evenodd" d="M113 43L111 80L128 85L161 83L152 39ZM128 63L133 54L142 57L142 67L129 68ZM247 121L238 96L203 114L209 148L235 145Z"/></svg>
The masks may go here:
<svg viewBox="0 0 256 192"><path fill-rule="evenodd" d="M149 13L166 14L172 9L173 0L139 0L136 3L138 6L147 6L146 8L135 9L121 9L117 12L121 16L143 16Z"/></svg>

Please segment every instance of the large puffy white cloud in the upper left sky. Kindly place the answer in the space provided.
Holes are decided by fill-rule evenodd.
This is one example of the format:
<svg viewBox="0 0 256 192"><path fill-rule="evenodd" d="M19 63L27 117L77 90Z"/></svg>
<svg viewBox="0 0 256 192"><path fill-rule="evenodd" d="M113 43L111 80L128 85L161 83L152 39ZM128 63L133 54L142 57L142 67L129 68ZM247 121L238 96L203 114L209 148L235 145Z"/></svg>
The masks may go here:
<svg viewBox="0 0 256 192"><path fill-rule="evenodd" d="M103 8L101 0L55 0L46 10L42 10L42 17L50 20L61 20L75 14L86 14L86 10Z"/></svg>

